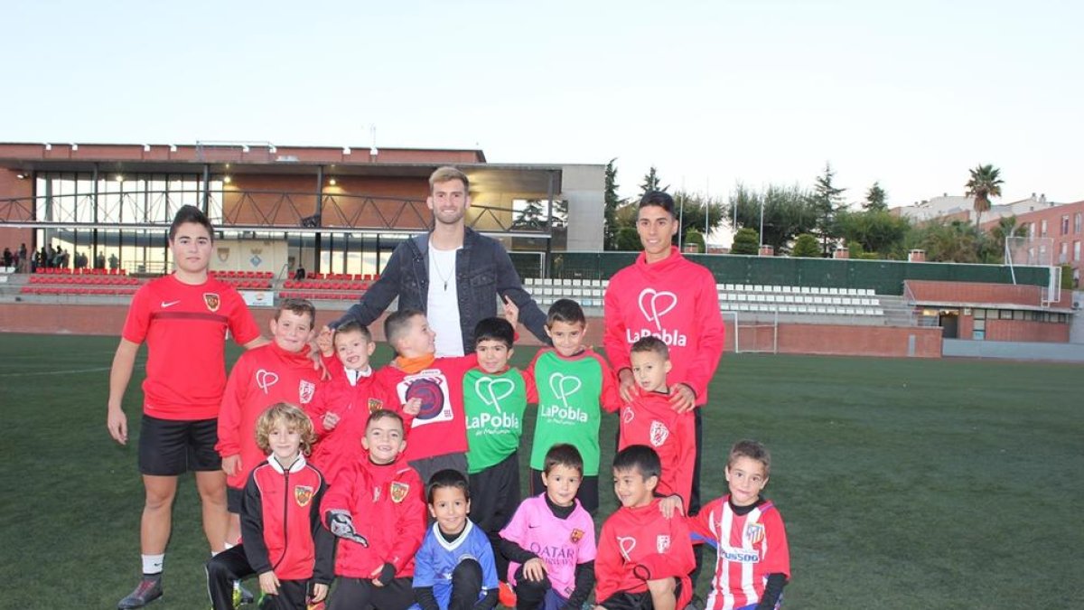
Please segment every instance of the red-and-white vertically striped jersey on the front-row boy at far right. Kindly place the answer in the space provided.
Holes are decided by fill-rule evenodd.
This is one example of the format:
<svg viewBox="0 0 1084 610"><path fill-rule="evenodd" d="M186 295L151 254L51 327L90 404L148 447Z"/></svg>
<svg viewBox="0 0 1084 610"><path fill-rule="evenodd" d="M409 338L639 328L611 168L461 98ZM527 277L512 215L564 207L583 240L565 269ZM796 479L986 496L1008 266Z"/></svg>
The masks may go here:
<svg viewBox="0 0 1084 610"><path fill-rule="evenodd" d="M740 508L738 509L740 511ZM712 500L687 518L694 541L715 547L715 573L707 607L733 610L756 605L769 574L790 579L790 549L783 518L775 505L762 500L745 514L731 506L730 496Z"/></svg>

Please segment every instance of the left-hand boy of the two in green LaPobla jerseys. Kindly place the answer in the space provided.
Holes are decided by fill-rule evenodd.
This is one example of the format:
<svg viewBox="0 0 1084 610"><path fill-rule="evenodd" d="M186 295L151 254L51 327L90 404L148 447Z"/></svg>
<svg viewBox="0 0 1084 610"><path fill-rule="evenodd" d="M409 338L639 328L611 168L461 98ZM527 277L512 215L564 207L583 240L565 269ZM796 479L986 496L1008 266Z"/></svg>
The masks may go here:
<svg viewBox="0 0 1084 610"><path fill-rule="evenodd" d="M475 327L474 336L478 365L463 376L472 513L493 545L496 573L503 576L508 563L499 550L500 532L519 507L517 449L524 410L538 403L538 393L531 379L508 366L515 340L512 322L486 318Z"/></svg>

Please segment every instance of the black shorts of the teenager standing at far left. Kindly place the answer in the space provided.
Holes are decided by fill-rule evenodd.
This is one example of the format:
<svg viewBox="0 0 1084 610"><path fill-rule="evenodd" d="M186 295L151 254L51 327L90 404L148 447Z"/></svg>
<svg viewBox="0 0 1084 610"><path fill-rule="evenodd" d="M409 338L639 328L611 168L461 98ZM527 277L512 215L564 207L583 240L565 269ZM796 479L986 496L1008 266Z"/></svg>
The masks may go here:
<svg viewBox="0 0 1084 610"><path fill-rule="evenodd" d="M218 419L171 420L143 414L139 433L139 471L155 476L221 470L215 450Z"/></svg>

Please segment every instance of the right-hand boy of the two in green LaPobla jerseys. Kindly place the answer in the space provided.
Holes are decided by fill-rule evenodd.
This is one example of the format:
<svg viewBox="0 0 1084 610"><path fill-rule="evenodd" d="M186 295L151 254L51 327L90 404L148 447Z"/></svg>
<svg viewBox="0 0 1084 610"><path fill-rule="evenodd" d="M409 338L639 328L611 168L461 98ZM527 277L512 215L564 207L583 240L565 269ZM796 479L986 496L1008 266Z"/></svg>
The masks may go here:
<svg viewBox="0 0 1084 610"><path fill-rule="evenodd" d="M550 306L546 334L553 347L539 351L526 374L534 380L539 414L531 447L531 495L545 491L545 454L557 443L569 443L583 456L583 482L576 497L594 514L598 510L598 424L602 411L621 407L614 370L602 356L583 345L588 318L580 304L559 298Z"/></svg>

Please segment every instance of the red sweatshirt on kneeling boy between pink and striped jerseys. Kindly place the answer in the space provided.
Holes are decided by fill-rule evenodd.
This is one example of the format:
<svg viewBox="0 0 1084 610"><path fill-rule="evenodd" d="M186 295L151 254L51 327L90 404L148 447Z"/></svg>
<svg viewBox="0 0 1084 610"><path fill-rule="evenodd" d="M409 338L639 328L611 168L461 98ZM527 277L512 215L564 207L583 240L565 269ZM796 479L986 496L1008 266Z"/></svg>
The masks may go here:
<svg viewBox="0 0 1084 610"><path fill-rule="evenodd" d="M595 599L647 590L647 581L673 576L681 581L678 608L693 598L688 573L696 560L685 520L675 514L666 519L659 499L640 508L619 508L598 534L595 556Z"/></svg>

